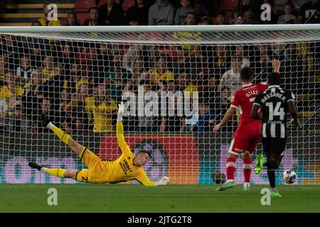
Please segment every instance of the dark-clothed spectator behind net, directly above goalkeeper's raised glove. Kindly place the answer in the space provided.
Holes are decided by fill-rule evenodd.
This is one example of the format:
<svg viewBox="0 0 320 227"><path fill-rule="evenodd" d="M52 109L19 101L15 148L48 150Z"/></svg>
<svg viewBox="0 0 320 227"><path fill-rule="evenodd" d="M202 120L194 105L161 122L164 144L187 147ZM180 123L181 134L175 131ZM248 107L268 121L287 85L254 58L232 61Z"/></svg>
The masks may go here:
<svg viewBox="0 0 320 227"><path fill-rule="evenodd" d="M122 56L119 51L114 51L114 57L110 63L110 69L105 73L104 82L110 88L110 95L114 101L120 103L122 101L122 90L128 79L132 77L131 73L121 66Z"/></svg>

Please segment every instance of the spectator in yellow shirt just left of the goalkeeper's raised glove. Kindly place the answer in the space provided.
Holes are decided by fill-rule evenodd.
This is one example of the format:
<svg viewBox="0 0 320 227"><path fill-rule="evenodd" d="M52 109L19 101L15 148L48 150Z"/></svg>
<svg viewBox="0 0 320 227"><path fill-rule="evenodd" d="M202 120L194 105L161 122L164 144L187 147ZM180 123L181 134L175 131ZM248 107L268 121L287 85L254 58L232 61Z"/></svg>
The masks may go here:
<svg viewBox="0 0 320 227"><path fill-rule="evenodd" d="M105 84L98 84L95 89L95 98L86 103L88 112L94 118L94 133L105 133L113 130L112 117L116 114L117 104L107 92Z"/></svg>

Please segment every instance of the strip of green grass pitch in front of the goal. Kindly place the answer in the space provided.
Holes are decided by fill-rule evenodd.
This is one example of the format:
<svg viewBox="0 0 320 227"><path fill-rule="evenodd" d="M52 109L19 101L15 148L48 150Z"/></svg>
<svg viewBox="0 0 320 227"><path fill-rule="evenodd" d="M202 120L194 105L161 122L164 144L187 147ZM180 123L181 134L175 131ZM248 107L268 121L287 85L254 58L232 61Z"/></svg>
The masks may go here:
<svg viewBox="0 0 320 227"><path fill-rule="evenodd" d="M0 212L319 212L320 185L282 185L282 198L262 206L266 185L215 192L216 185L0 184ZM58 206L48 206L48 189Z"/></svg>

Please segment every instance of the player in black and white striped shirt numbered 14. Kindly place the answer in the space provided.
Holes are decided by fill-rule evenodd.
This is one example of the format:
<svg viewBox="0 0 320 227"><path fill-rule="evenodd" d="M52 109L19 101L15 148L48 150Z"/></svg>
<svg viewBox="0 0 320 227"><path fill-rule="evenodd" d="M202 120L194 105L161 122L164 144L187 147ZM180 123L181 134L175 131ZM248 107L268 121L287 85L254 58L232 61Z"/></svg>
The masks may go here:
<svg viewBox="0 0 320 227"><path fill-rule="evenodd" d="M265 92L255 96L251 117L260 118L262 109L262 145L267 155L267 174L272 190L272 197L281 197L275 187L275 170L279 168L286 147L287 113L291 114L296 126L299 126L297 110L294 105L294 95L279 86L279 73L268 76L269 87ZM263 157L262 157L263 158Z"/></svg>

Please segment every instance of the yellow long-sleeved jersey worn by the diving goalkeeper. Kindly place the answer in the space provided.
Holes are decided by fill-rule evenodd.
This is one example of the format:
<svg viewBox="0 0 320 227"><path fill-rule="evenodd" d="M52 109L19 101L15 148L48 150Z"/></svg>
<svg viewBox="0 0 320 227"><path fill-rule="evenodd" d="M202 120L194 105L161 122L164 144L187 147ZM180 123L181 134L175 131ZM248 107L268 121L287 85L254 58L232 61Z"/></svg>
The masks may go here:
<svg viewBox="0 0 320 227"><path fill-rule="evenodd" d="M152 182L142 167L133 164L134 154L131 152L129 145L124 140L122 122L117 121L117 139L122 155L114 161L106 161L107 170L110 170L110 179L108 182L126 182L130 179L137 179L145 186L156 186L156 182Z"/></svg>

